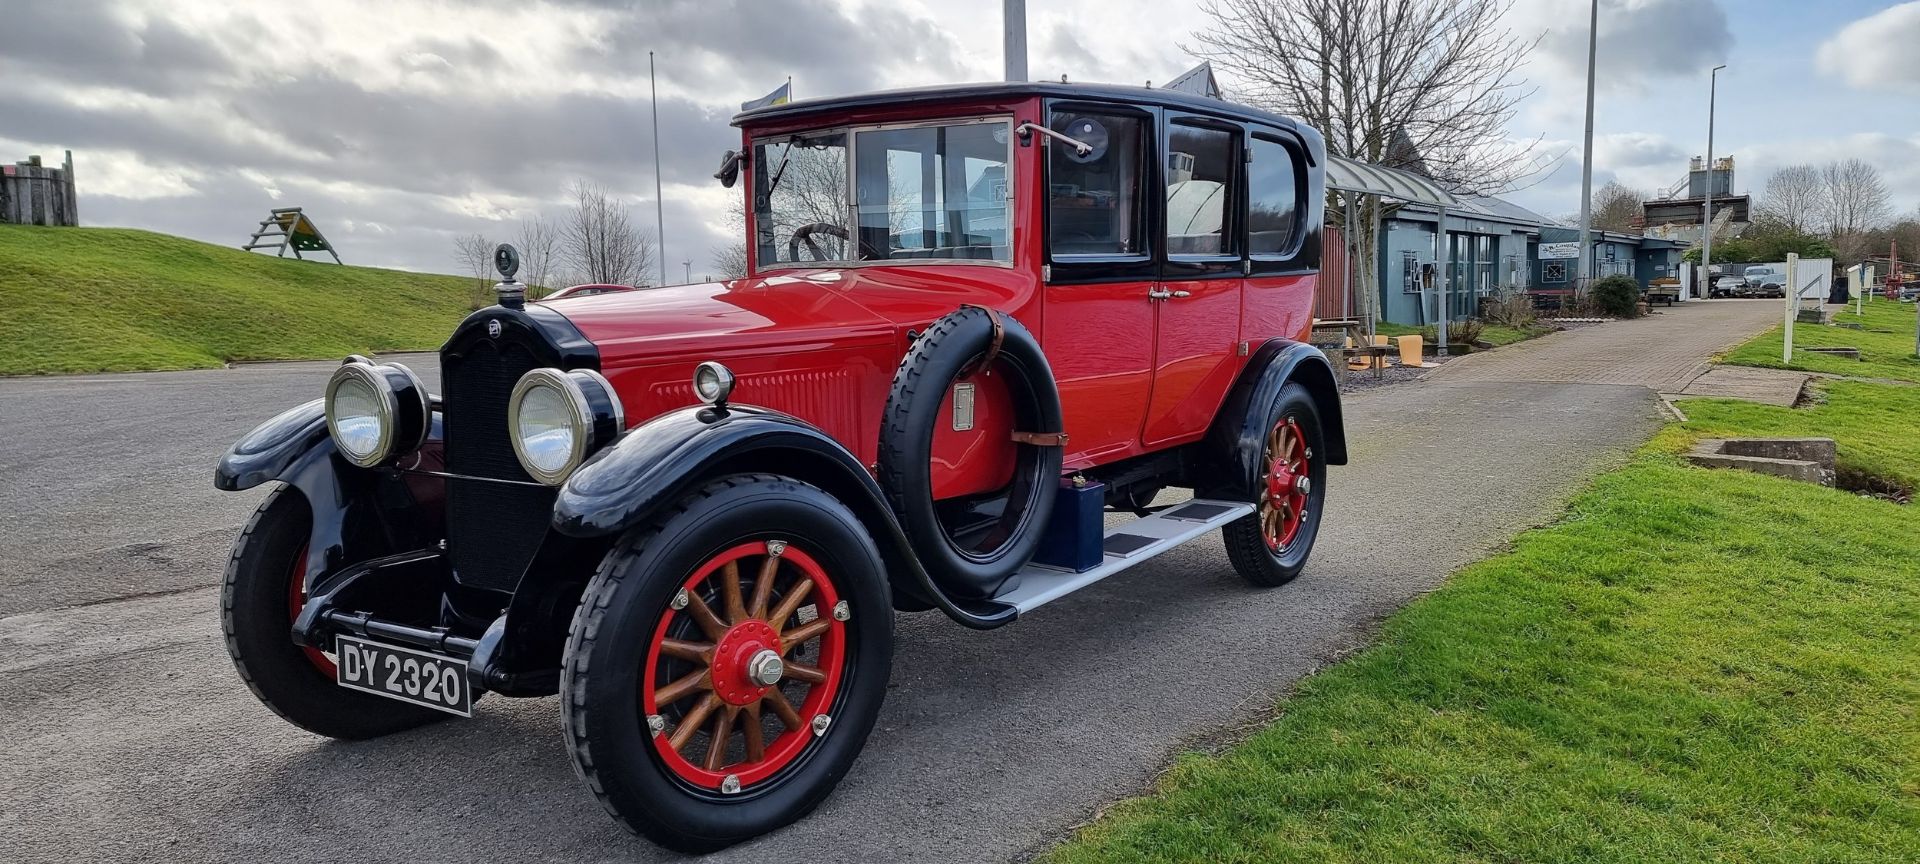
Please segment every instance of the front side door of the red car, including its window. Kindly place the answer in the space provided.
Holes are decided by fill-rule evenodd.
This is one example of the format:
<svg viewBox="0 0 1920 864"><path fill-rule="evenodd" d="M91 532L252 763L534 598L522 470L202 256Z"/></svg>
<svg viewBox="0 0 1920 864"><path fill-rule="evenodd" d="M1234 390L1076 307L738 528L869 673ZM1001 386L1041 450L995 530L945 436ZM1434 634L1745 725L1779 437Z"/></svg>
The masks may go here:
<svg viewBox="0 0 1920 864"><path fill-rule="evenodd" d="M1139 447L1152 390L1158 276L1156 115L1100 102L1048 104L1046 269L1041 346L1066 413L1066 465Z"/></svg>

